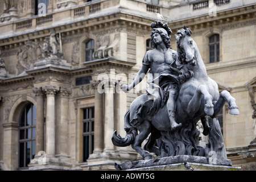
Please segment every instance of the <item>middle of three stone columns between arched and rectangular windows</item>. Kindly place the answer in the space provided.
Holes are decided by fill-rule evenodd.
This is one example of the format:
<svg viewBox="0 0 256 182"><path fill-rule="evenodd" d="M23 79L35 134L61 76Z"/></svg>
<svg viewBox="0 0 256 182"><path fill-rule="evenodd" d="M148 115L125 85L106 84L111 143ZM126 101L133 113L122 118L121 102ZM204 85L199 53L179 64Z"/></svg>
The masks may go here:
<svg viewBox="0 0 256 182"><path fill-rule="evenodd" d="M55 94L57 87L46 86L46 154L55 155Z"/></svg>

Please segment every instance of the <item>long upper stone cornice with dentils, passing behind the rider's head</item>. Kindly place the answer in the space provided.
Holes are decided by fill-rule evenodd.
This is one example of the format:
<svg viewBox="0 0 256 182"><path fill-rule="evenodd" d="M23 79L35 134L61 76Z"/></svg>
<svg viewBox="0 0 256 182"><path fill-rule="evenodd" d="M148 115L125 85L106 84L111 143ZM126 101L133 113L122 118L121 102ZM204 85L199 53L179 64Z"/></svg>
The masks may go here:
<svg viewBox="0 0 256 182"><path fill-rule="evenodd" d="M255 6L243 6L237 9L226 10L218 12L216 16L210 17L207 15L200 15L192 18L179 19L176 21L168 22L173 32L179 30L185 24L192 30L204 28L207 26L218 26L225 23L238 22L238 20L251 19L255 17ZM24 44L28 39L43 41L46 36L49 36L49 30L54 28L56 34L61 32L63 38L71 35L79 34L80 32L92 32L100 29L106 29L121 25L127 27L137 28L138 30L146 30L150 27L151 22L155 20L143 16L126 13L125 11L115 10L112 13L100 14L84 19L73 20L68 23L57 24L55 26L48 26L42 28L32 29L28 32L20 32L11 36L0 38L0 46L2 49L9 49L19 47Z"/></svg>

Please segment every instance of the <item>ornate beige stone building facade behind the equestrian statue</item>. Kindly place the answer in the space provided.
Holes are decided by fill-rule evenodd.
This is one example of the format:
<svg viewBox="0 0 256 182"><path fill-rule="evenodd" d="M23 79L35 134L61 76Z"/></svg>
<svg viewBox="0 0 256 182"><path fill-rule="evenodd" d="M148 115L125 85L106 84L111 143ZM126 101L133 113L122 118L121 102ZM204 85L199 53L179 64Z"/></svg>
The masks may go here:
<svg viewBox="0 0 256 182"><path fill-rule="evenodd" d="M114 169L115 162L140 159L130 147L113 146L111 136L114 130L125 135L123 117L146 85L138 85L135 93L117 93L120 81L133 80L141 67L158 11L173 34L184 24L193 31L209 77L237 99L238 117L223 109L224 143L233 166L255 170L255 2L53 0L46 15L35 10L35 1L13 2L0 2L1 169ZM210 3L216 3L216 10ZM52 30L63 55L46 60ZM220 61L209 63L214 34L220 35ZM93 59L85 61L90 40ZM171 47L176 50L174 36ZM102 80L110 92L98 92ZM35 156L27 167L19 167L20 114L27 104L36 107ZM94 150L84 160L83 113L91 107ZM38 163L40 151L46 152L45 164Z"/></svg>

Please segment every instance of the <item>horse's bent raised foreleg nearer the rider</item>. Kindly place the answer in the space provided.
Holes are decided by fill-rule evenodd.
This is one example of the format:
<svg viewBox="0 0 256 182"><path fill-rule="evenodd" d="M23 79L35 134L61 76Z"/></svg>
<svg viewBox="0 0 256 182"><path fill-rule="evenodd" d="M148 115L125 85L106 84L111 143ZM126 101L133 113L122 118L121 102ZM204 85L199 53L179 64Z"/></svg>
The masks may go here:
<svg viewBox="0 0 256 182"><path fill-rule="evenodd" d="M199 110L201 105L201 98L204 97L205 106L204 111L207 115L213 115L213 104L212 104L212 96L209 94L206 86L200 85L192 99L188 102L188 113L193 117L193 115Z"/></svg>

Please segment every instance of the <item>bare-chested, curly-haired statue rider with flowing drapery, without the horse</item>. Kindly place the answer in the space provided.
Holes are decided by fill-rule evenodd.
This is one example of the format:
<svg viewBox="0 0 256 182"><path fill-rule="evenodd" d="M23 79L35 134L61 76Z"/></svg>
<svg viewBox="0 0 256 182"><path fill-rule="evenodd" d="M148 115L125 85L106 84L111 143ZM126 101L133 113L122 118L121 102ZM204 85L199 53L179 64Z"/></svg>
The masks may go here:
<svg viewBox="0 0 256 182"><path fill-rule="evenodd" d="M181 126L176 123L176 98L179 93L179 82L175 60L177 53L171 49L170 38L171 29L163 26L162 22L157 22L151 32L151 44L154 49L147 51L142 60L142 68L137 73L131 85L123 85L123 91L127 92L141 82L148 72L148 84L146 89L148 98L151 98L138 108L138 116L131 123L142 122L146 117L152 117L160 107L167 104L168 115L170 118L170 129L174 130ZM152 27L152 26L151 26ZM168 34L169 33L169 34ZM152 99L153 98L153 99ZM143 111L142 111L143 110ZM145 116L146 113L146 116Z"/></svg>

